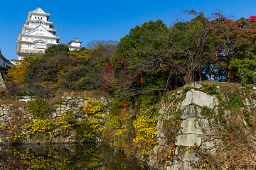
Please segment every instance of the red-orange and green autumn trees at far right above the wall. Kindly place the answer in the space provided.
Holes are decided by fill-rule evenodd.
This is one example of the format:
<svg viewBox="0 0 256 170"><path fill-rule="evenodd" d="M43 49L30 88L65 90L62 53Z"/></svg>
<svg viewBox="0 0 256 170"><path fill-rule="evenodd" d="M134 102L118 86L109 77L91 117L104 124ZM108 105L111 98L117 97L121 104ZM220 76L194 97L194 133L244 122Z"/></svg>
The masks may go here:
<svg viewBox="0 0 256 170"><path fill-rule="evenodd" d="M254 84L256 17L232 21L218 13L215 15L215 29L210 33L209 40L209 76L215 81Z"/></svg>

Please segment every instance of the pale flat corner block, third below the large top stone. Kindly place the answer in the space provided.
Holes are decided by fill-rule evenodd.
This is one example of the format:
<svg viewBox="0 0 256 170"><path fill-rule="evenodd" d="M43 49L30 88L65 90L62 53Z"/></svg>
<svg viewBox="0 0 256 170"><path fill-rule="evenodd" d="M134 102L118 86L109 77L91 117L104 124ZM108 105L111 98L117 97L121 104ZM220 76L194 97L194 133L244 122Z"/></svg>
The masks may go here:
<svg viewBox="0 0 256 170"><path fill-rule="evenodd" d="M186 135L178 135L176 137L176 142L175 145L177 146L187 146L187 147L192 147L192 146L200 146L201 145L201 137L200 135L196 134L186 134Z"/></svg>

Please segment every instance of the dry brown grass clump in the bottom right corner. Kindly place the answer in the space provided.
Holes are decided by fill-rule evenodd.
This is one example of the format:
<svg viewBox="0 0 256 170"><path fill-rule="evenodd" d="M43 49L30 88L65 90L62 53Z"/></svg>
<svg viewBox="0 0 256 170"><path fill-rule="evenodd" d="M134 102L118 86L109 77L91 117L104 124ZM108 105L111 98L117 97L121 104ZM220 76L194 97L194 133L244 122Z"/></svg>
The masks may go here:
<svg viewBox="0 0 256 170"><path fill-rule="evenodd" d="M256 135L255 126L245 128L238 114L233 114L228 127L211 125L212 135L218 135L220 142L212 165L217 169L255 169L256 168Z"/></svg>

